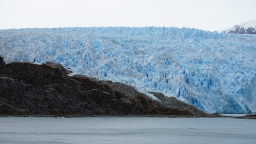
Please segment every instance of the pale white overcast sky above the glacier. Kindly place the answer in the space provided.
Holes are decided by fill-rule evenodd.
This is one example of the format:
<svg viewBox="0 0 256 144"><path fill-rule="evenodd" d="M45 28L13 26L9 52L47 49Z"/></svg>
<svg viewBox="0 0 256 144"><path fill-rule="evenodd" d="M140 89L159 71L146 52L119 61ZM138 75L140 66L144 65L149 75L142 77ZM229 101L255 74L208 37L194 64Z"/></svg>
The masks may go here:
<svg viewBox="0 0 256 144"><path fill-rule="evenodd" d="M215 31L256 19L256 0L0 0L0 29L190 27Z"/></svg>

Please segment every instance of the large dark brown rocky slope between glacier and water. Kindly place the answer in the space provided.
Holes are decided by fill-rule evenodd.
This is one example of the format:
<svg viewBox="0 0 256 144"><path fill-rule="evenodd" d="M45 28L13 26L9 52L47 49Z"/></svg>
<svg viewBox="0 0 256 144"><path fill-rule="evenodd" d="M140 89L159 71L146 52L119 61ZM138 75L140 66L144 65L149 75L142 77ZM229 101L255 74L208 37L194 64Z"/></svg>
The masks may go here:
<svg viewBox="0 0 256 144"><path fill-rule="evenodd" d="M0 58L0 115L193 115L127 85L67 74L59 64Z"/></svg>

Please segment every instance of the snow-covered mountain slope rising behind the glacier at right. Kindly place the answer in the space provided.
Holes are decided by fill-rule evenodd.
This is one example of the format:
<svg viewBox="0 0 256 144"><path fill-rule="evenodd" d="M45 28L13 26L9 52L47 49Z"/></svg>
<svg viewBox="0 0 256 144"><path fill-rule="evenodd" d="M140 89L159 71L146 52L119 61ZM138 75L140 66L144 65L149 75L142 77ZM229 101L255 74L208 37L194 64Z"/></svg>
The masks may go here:
<svg viewBox="0 0 256 144"><path fill-rule="evenodd" d="M256 19L245 23L228 27L220 31L221 33L239 33L239 34L256 34Z"/></svg>

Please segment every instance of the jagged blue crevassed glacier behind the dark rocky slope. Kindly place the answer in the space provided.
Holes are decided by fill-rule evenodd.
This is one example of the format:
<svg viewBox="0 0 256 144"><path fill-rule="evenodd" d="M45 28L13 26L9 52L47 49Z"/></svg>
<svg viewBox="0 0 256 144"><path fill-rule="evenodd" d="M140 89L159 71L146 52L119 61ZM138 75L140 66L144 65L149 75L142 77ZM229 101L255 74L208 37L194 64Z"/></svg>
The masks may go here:
<svg viewBox="0 0 256 144"><path fill-rule="evenodd" d="M174 96L207 113L256 112L256 35L175 27L0 30L5 63L60 63L72 74Z"/></svg>

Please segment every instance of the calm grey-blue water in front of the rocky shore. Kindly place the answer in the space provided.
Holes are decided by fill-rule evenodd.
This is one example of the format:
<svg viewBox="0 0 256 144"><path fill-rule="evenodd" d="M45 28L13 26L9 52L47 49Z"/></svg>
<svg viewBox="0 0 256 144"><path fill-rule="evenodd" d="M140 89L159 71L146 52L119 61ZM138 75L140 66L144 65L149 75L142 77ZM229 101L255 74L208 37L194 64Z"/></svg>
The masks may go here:
<svg viewBox="0 0 256 144"><path fill-rule="evenodd" d="M256 143L255 119L0 117L0 143Z"/></svg>

